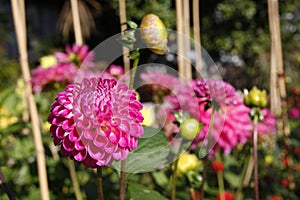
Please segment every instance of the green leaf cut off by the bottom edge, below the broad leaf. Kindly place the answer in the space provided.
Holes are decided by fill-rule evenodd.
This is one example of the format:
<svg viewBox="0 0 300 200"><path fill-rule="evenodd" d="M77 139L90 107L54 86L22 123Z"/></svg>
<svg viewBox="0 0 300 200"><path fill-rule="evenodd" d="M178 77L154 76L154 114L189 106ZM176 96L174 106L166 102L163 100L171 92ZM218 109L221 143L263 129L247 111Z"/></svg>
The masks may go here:
<svg viewBox="0 0 300 200"><path fill-rule="evenodd" d="M128 190L130 194L130 200L168 200L160 193L140 184L129 183Z"/></svg>

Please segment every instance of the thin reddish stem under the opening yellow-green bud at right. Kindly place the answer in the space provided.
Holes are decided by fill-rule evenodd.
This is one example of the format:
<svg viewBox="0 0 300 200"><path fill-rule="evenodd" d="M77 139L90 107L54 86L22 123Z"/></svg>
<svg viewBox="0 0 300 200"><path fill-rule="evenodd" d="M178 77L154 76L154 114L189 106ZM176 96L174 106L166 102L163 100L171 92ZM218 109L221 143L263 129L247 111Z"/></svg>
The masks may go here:
<svg viewBox="0 0 300 200"><path fill-rule="evenodd" d="M255 183L255 200L259 200L259 185L258 185L258 167L257 167L257 122L258 115L253 119L253 158L254 158L254 183Z"/></svg>

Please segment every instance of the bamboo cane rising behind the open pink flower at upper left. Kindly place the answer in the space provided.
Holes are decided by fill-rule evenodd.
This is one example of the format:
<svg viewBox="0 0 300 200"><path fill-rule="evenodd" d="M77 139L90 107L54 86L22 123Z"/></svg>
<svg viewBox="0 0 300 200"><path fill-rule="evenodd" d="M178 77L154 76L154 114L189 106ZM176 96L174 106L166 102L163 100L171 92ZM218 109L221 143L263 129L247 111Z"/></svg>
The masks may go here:
<svg viewBox="0 0 300 200"><path fill-rule="evenodd" d="M78 9L78 0L71 0L71 10L73 17L73 27L75 33L75 41L78 45L83 44L80 17L79 17L79 9Z"/></svg>

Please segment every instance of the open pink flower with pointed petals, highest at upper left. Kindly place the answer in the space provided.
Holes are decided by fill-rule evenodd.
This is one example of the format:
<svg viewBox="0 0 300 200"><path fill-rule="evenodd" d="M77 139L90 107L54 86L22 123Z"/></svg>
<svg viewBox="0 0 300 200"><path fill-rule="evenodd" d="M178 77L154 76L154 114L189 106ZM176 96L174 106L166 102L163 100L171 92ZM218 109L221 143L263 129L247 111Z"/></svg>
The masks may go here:
<svg viewBox="0 0 300 200"><path fill-rule="evenodd" d="M87 45L79 46L73 44L72 47L66 46L65 52L56 52L55 57L59 63L70 64L74 63L77 67L84 64L85 67L94 67L94 53L89 51Z"/></svg>

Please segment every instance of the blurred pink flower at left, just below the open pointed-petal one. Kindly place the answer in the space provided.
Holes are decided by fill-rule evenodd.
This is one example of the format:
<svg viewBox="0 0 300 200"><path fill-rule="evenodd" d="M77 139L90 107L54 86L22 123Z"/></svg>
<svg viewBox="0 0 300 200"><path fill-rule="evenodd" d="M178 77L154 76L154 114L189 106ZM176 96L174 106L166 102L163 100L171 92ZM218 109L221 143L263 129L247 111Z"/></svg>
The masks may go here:
<svg viewBox="0 0 300 200"><path fill-rule="evenodd" d="M73 64L43 68L39 66L32 71L31 84L34 92L41 92L47 84L54 82L72 83L77 73Z"/></svg>

